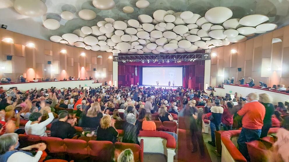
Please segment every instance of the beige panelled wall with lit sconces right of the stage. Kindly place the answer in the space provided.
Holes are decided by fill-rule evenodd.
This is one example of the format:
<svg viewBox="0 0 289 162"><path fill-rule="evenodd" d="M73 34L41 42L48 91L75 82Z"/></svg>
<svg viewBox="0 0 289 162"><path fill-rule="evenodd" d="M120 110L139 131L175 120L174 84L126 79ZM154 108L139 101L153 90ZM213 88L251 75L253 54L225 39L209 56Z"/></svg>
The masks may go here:
<svg viewBox="0 0 289 162"><path fill-rule="evenodd" d="M282 42L272 44L273 38L280 38ZM231 53L232 49L237 53ZM245 42L215 48L212 53L217 56L211 57L211 86L220 84L228 77L235 77L234 83L239 84L236 81L242 76L245 82L253 78L256 85L262 81L268 86L289 86L289 26ZM242 68L242 71L239 72L237 68Z"/></svg>

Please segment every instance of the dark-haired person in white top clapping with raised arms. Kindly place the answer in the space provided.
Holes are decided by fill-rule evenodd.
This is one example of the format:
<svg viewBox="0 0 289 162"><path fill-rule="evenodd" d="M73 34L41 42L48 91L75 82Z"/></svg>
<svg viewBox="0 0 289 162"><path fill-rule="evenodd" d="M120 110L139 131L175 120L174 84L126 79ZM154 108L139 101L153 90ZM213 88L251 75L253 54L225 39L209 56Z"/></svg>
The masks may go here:
<svg viewBox="0 0 289 162"><path fill-rule="evenodd" d="M47 111L49 118L40 123L42 114L40 112L33 112L29 116L29 121L25 124L26 134L33 134L38 136L47 136L46 125L52 122L54 116L50 107L44 107L44 111ZM41 110L40 110L41 111Z"/></svg>

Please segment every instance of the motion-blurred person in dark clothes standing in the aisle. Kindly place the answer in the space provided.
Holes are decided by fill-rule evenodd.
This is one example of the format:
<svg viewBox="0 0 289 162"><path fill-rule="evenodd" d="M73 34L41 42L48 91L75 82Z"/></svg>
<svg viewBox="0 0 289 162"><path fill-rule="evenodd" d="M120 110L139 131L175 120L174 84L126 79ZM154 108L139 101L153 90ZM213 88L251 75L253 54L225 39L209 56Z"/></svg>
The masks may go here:
<svg viewBox="0 0 289 162"><path fill-rule="evenodd" d="M184 112L185 116L185 125L186 129L190 130L190 136L187 136L187 144L189 145L190 143L188 142L189 140L192 141L193 144L193 150L191 151L192 153L198 151L198 146L197 142L199 144L200 148L200 153L201 156L203 157L205 155L205 150L204 150L204 140L202 136L202 109L199 109L197 112L197 115L192 111L191 108L187 107ZM191 139L189 139L191 138ZM188 146L187 145L187 146Z"/></svg>

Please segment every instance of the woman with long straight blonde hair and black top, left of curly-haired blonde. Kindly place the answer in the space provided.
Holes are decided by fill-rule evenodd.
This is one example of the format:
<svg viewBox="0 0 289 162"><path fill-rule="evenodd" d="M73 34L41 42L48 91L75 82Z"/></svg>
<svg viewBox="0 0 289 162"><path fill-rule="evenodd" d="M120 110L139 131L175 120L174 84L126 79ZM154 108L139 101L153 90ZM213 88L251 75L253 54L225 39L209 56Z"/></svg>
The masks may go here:
<svg viewBox="0 0 289 162"><path fill-rule="evenodd" d="M81 127L87 127L92 129L97 129L99 122L103 114L98 102L92 103L91 107L88 109L87 114L83 114L81 118Z"/></svg>

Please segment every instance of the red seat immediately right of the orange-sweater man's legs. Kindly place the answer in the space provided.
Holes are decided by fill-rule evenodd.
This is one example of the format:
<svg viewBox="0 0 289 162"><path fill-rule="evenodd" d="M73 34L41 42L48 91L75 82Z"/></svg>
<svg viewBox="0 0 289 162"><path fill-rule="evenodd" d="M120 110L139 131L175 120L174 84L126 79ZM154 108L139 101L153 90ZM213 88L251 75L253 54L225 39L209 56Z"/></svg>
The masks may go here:
<svg viewBox="0 0 289 162"><path fill-rule="evenodd" d="M261 141L246 142L251 162L268 161L268 151Z"/></svg>

